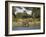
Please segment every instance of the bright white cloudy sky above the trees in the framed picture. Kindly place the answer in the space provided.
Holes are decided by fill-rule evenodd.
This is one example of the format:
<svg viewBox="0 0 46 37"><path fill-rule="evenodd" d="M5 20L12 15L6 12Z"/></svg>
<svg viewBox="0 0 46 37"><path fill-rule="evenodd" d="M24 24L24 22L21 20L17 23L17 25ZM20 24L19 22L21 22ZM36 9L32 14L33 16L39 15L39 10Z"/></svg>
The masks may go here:
<svg viewBox="0 0 46 37"><path fill-rule="evenodd" d="M30 7L14 7L15 10L15 14L17 13L23 13L24 11L26 11L27 14L31 15L32 14L32 9Z"/></svg>

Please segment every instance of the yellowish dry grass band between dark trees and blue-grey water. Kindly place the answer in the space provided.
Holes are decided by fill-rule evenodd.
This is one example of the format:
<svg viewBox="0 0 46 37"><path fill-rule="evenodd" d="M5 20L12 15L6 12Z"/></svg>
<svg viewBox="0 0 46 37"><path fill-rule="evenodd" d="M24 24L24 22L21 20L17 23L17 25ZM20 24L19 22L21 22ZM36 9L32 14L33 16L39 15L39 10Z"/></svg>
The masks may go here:
<svg viewBox="0 0 46 37"><path fill-rule="evenodd" d="M39 19L32 19L32 18L27 18L27 19L21 19L21 18L16 18L16 19L14 19L14 21L12 21L12 26L14 27L16 27L16 26L23 26L24 24L19 24L18 22L23 22L23 21L25 21L25 20L27 20L28 21L28 23L29 22L31 22L30 24L29 24L29 27L30 26L36 26L36 25L39 25L40 24L40 21L39 21ZM18 23L18 24L17 24ZM27 24L28 25L28 24Z"/></svg>

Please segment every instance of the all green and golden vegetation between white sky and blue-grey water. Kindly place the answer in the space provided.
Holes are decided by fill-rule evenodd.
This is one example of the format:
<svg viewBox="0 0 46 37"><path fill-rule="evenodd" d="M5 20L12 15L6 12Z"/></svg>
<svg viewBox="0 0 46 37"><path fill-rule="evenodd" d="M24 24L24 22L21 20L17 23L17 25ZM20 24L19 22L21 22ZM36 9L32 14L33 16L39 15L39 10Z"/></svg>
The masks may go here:
<svg viewBox="0 0 46 37"><path fill-rule="evenodd" d="M20 24L21 22L21 24ZM15 16L12 16L12 25L13 27L17 26L37 26L40 25L40 8L33 8L32 15L28 15L26 12L17 13Z"/></svg>

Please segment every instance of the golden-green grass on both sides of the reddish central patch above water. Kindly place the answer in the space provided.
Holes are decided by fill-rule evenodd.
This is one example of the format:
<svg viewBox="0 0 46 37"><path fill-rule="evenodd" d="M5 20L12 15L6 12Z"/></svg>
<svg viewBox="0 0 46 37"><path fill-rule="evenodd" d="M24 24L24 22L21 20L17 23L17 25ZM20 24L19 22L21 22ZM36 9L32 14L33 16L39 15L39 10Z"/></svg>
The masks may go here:
<svg viewBox="0 0 46 37"><path fill-rule="evenodd" d="M14 20L12 20L12 27L21 27L23 26L23 24L16 24L17 21L19 21L21 18L14 18ZM25 19L22 19L22 20L25 20ZM37 25L40 25L40 21L38 18L35 18L35 19L32 19L32 18L27 18L26 20L30 20L32 21L31 24L29 24L29 27L30 26L37 26Z"/></svg>

